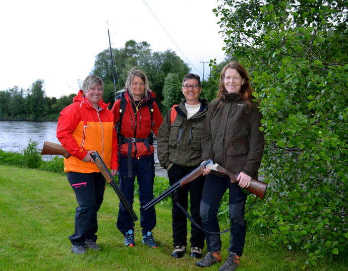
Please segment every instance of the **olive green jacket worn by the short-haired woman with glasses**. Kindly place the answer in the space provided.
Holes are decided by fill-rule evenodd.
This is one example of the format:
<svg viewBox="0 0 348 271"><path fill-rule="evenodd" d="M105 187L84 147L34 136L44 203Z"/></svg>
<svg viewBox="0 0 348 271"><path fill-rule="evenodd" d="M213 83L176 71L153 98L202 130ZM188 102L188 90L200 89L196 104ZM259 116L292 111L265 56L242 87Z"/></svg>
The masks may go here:
<svg viewBox="0 0 348 271"><path fill-rule="evenodd" d="M186 99L165 115L157 136L157 155L160 165L165 169L170 163L180 166L198 166L202 162L201 133L207 115L208 101L200 99L199 111L187 119ZM171 124L171 110L177 110L175 121Z"/></svg>

